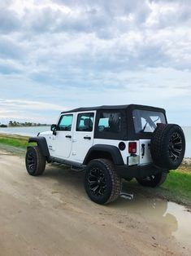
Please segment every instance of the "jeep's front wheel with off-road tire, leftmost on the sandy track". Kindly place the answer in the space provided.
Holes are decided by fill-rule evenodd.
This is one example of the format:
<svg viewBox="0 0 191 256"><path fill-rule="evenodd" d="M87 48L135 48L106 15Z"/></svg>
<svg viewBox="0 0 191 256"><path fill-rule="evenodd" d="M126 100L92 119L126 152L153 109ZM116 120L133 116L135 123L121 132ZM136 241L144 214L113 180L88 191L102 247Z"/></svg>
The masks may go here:
<svg viewBox="0 0 191 256"><path fill-rule="evenodd" d="M38 146L28 147L25 157L25 165L28 174L32 176L43 174L46 167L46 157L41 154Z"/></svg>

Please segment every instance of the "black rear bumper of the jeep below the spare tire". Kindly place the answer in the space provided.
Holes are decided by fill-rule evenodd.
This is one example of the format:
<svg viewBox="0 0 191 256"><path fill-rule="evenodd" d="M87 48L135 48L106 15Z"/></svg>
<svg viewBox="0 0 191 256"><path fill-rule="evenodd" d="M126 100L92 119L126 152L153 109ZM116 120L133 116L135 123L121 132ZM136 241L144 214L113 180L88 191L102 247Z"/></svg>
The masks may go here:
<svg viewBox="0 0 191 256"><path fill-rule="evenodd" d="M152 174L157 174L164 170L154 164L146 165L146 166L115 166L115 169L120 177L122 178L144 178L146 176L150 176Z"/></svg>

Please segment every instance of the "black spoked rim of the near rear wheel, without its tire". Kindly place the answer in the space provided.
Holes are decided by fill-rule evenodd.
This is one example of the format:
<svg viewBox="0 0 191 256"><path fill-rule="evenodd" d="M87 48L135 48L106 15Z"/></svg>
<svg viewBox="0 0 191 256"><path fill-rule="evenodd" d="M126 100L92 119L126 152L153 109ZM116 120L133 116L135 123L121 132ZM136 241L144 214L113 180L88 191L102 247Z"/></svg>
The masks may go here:
<svg viewBox="0 0 191 256"><path fill-rule="evenodd" d="M94 167L88 175L89 191L93 196L103 196L106 192L106 176L102 169Z"/></svg>

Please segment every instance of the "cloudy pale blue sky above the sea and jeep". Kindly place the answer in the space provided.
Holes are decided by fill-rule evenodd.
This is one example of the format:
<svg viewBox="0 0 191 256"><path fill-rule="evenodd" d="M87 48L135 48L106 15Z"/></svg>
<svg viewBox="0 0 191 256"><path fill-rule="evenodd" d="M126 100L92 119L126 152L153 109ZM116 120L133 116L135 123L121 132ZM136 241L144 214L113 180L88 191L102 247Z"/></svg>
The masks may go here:
<svg viewBox="0 0 191 256"><path fill-rule="evenodd" d="M145 104L191 126L190 0L0 0L0 122Z"/></svg>

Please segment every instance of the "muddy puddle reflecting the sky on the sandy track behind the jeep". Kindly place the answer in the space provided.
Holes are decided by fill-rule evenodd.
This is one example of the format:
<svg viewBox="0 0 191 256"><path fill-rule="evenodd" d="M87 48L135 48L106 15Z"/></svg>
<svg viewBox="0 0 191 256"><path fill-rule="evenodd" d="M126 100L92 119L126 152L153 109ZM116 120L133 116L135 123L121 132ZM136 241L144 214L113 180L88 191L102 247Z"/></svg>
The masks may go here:
<svg viewBox="0 0 191 256"><path fill-rule="evenodd" d="M135 196L133 200L132 198L133 195L131 197L131 194L123 192L119 200L119 208L127 211L127 214L140 214L145 219L145 223L153 225L155 223L161 234L174 236L177 241L190 244L191 214L184 206L145 196Z"/></svg>

